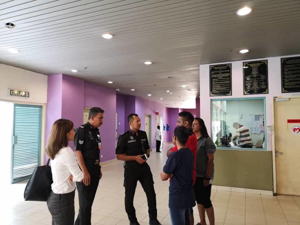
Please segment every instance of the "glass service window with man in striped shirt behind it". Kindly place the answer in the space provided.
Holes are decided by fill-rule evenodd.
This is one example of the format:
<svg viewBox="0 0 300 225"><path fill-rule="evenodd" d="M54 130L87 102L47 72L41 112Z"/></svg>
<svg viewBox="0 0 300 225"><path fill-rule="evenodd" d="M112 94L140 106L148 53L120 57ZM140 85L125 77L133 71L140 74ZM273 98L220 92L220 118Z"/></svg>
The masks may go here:
<svg viewBox="0 0 300 225"><path fill-rule="evenodd" d="M218 148L266 150L265 98L213 99L211 107Z"/></svg>

